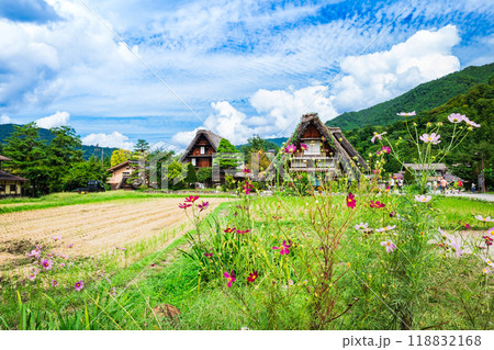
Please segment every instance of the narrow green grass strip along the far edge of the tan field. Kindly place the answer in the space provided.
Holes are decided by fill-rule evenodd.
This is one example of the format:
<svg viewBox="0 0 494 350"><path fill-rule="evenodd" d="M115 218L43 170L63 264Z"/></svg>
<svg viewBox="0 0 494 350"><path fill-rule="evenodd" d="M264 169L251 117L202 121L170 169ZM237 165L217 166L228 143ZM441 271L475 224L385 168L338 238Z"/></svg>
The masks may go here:
<svg viewBox="0 0 494 350"><path fill-rule="evenodd" d="M183 193L146 193L141 191L109 191L100 193L53 193L40 199L2 199L0 200L0 214L33 211L48 207L58 207L76 204L103 203L109 201L147 200L161 197L183 197ZM202 197L229 197L226 193L201 194Z"/></svg>

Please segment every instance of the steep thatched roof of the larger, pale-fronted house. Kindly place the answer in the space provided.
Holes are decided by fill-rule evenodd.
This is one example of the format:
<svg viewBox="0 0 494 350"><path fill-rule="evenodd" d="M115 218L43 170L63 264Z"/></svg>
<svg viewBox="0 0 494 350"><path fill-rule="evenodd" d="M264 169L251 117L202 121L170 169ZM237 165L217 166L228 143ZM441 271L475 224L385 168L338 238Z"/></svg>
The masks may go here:
<svg viewBox="0 0 494 350"><path fill-rule="evenodd" d="M359 155L359 153L351 146L348 139L343 135L341 129L339 127L326 127L323 122L319 120L317 113L308 113L302 115L301 122L296 127L293 135L287 142L287 145L297 145L301 142L302 135L304 135L305 129L310 126L314 125L321 135L323 135L328 143L335 147L336 157L338 161L343 165L346 172L353 173L352 163L360 166L363 169L368 169L368 166L363 158ZM282 161L284 161L284 155L282 156ZM268 171L273 170L273 163L271 163L268 168ZM359 171L359 170L357 170ZM353 173L357 174L357 173Z"/></svg>

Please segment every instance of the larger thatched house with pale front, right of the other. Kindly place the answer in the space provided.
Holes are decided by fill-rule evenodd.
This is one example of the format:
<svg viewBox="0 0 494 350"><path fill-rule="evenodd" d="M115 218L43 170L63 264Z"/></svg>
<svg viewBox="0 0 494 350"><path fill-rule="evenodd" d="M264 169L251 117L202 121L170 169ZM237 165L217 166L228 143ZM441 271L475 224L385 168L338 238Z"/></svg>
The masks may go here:
<svg viewBox="0 0 494 350"><path fill-rule="evenodd" d="M289 156L290 172L323 172L332 178L343 174L358 178L361 169L368 170L366 161L343 135L341 129L326 127L317 113L302 115L299 126L287 142L287 146L289 145L296 147L296 150L283 154L281 163ZM271 163L268 173L273 171L274 163Z"/></svg>

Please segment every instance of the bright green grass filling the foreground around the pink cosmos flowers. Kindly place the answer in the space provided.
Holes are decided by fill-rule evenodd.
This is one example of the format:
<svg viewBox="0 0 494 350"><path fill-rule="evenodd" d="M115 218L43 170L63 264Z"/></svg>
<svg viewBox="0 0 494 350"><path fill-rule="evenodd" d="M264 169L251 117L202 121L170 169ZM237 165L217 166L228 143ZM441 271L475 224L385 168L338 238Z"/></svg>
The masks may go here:
<svg viewBox="0 0 494 350"><path fill-rule="evenodd" d="M57 196L50 196L47 203L55 206ZM82 197L61 194L59 197L61 203L69 203L63 205L70 205L81 204L74 201L83 200L87 204L112 200L142 201L155 197L155 194L146 196L121 192ZM323 213L322 217L329 214L330 221L347 225L340 237L338 259L334 261L333 272L341 276L332 283L344 285L336 290L338 298L335 298L335 309L343 307L345 311L348 301L352 301L351 305L356 304L351 313L344 313L325 329L398 328L393 326L396 318L385 314L385 305L392 305L393 293L401 291L401 282L391 279L386 272L390 269L388 263L396 267L400 262L385 262L392 255L382 256L382 252L381 258L375 260L378 252L370 245L372 235L368 238L366 235L363 238L356 236L352 226L355 223L372 221L375 225L385 226L395 219L390 218L392 211L402 213L404 210L398 199L384 197L384 210L378 212L366 207L358 213L349 212L344 200L345 196L335 196L330 207L337 213L351 213L351 225L345 224L346 216L332 216L330 211ZM357 196L359 204L368 200L363 195ZM125 251L115 250L112 255L65 261L71 263L70 269L53 269L49 274L41 273L34 282L2 274L0 328L312 329L310 315L314 306L307 304L307 300L311 301L316 294L307 294L306 289L318 285L311 274L317 264L313 266L314 261L306 260L310 259L306 251L313 245L321 245L316 233L311 232L314 225L322 227L317 225L325 224L321 223L317 218L319 214L314 210L322 204L323 197L272 196L245 201L220 204L187 237L180 236L178 228L165 230L154 238L127 246ZM11 204L21 204L21 207L30 203L11 201ZM467 199L436 197L433 204L437 211L430 212L430 219L422 215L424 223L434 221L448 230L461 227L459 222L469 223L471 230L485 230L489 224L478 222L474 215L492 216L493 213L492 203ZM245 210L247 206L249 211ZM225 228L233 226L250 233L242 236L224 233ZM205 236L194 248L190 242L198 230ZM293 242L290 255L283 257L272 247L281 246L281 241L287 239ZM379 247L382 238L375 239ZM402 238L393 240L400 247ZM198 246L200 249L197 249ZM214 252L213 258L204 257L204 252L209 251ZM322 256L316 252L319 258L324 253L324 250ZM434 271L428 271L422 278L427 278L430 285L420 286L424 290L414 302L414 307L420 308L420 317L413 328L493 329L490 316L492 300L485 298L492 292L492 282L472 273L473 268L481 269L481 263L472 260L472 256L460 260L445 255L441 259L446 260L427 260ZM254 261L252 267L259 272L258 286L242 282L252 271L244 268L248 261ZM349 272L348 263L358 279ZM411 262L414 267L418 263L418 260ZM301 267L306 264L311 269L302 272ZM237 281L227 287L223 273L231 270L236 271ZM426 273L425 269L418 269L422 270ZM57 280L59 286L52 286L50 280ZM76 292L74 283L79 280L85 281L85 287ZM362 287L363 280L368 287ZM405 285L411 289L415 283L418 287L418 282L406 282ZM370 293L369 289L375 294ZM173 316L177 309L180 314Z"/></svg>

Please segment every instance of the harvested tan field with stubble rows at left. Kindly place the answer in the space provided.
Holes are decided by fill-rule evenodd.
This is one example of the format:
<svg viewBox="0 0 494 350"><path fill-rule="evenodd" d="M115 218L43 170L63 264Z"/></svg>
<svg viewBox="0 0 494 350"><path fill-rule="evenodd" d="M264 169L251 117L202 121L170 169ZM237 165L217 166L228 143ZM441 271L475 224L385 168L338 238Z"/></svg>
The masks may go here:
<svg viewBox="0 0 494 350"><path fill-rule="evenodd" d="M210 212L227 199L209 199ZM183 199L79 204L0 215L0 266L25 257L34 244L70 257L94 256L159 235L186 222ZM53 237L59 236L55 241ZM72 245L68 248L68 245Z"/></svg>

